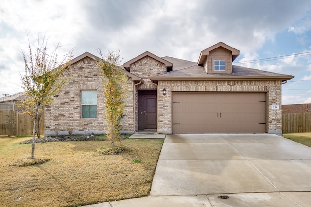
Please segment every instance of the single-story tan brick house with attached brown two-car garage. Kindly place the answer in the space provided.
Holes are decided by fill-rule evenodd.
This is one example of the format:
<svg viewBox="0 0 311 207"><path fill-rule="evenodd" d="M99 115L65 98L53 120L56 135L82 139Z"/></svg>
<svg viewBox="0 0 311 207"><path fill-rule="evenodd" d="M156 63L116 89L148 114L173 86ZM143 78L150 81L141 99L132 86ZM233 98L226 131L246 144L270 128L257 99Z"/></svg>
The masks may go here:
<svg viewBox="0 0 311 207"><path fill-rule="evenodd" d="M123 64L123 133L282 133L282 83L294 76L232 65L240 51L219 42L191 62L144 52ZM70 80L45 109L45 135L104 133L98 57L71 61Z"/></svg>

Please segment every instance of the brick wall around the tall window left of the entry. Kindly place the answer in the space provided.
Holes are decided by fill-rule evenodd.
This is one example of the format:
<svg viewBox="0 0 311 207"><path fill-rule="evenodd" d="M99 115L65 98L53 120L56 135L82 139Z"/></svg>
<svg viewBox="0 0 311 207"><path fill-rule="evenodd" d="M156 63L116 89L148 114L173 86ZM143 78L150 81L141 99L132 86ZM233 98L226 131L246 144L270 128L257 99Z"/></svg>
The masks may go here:
<svg viewBox="0 0 311 207"><path fill-rule="evenodd" d="M45 135L68 134L71 129L74 134L104 133L104 95L103 76L100 68L92 58L72 65L67 71L69 82L54 96L53 103L45 107ZM122 119L124 131L134 130L133 118L133 82L127 81L126 114ZM81 119L81 90L97 90L97 118Z"/></svg>

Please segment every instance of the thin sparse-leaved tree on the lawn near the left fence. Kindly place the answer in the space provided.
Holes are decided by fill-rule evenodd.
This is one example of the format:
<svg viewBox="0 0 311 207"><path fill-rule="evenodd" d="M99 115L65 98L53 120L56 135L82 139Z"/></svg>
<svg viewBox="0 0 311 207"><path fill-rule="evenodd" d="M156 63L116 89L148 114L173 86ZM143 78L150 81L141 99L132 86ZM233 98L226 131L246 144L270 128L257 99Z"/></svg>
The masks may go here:
<svg viewBox="0 0 311 207"><path fill-rule="evenodd" d="M31 159L34 159L35 151L35 129L38 120L38 113L41 106L49 105L52 102L52 96L56 95L60 88L67 83L64 75L65 69L69 68L70 60L73 58L72 50L69 51L61 61L56 54L60 47L58 43L55 49L48 54L48 39L43 37L37 40L35 53L31 48L28 37L28 54L22 51L25 63L25 75L21 75L23 89L27 93L26 99L22 101L23 105L29 106L31 113L34 113L34 127L32 138Z"/></svg>

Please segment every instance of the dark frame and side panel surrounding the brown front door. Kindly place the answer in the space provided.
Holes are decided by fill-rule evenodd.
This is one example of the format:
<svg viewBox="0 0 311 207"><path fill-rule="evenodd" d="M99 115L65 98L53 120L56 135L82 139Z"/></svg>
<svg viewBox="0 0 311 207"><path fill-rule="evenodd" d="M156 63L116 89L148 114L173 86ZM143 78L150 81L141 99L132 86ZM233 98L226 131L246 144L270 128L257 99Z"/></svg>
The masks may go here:
<svg viewBox="0 0 311 207"><path fill-rule="evenodd" d="M138 131L157 131L157 126L158 126L158 116L157 116L157 90L137 90L138 95L137 95L137 102L138 102L138 107L137 107L137 119L138 119ZM152 129L146 130L144 128L144 98L145 97L155 97L155 103L156 103L156 127Z"/></svg>

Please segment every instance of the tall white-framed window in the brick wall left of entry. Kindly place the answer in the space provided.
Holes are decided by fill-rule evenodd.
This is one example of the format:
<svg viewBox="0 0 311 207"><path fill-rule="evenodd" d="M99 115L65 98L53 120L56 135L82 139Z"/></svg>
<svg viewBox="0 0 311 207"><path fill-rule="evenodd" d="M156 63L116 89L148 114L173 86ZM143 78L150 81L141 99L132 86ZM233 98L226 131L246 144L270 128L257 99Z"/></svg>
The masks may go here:
<svg viewBox="0 0 311 207"><path fill-rule="evenodd" d="M97 118L97 91L81 91L81 118Z"/></svg>

